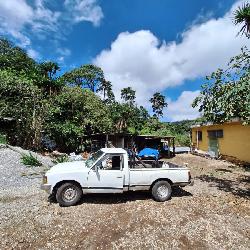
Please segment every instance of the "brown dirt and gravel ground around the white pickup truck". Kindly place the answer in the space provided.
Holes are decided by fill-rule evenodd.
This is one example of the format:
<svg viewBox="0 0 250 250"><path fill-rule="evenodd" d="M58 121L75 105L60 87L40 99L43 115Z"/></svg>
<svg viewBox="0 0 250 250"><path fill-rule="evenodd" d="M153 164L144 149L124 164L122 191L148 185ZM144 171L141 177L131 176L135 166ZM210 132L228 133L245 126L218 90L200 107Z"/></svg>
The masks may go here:
<svg viewBox="0 0 250 250"><path fill-rule="evenodd" d="M190 154L171 161L188 163L195 183L167 202L93 194L68 208L48 202L40 175L22 166L25 182L1 187L0 249L250 249L249 170ZM11 162L0 164L3 176Z"/></svg>

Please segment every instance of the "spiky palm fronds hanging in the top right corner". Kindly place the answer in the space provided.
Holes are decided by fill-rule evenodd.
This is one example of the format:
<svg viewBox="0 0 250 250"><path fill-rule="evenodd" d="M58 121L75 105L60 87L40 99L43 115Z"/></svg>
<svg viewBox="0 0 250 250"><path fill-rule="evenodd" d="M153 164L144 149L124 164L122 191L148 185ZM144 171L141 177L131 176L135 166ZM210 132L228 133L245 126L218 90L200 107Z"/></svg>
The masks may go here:
<svg viewBox="0 0 250 250"><path fill-rule="evenodd" d="M239 34L245 34L250 38L250 4L245 3L234 12L234 24L243 24Z"/></svg>

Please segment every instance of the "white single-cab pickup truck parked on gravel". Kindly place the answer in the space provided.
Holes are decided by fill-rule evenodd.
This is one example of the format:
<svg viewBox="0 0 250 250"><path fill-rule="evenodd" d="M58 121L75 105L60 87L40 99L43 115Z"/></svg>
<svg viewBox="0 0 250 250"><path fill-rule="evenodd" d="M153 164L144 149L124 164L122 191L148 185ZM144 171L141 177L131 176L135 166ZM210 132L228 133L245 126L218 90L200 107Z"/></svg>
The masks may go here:
<svg viewBox="0 0 250 250"><path fill-rule="evenodd" d="M171 197L172 186L191 184L190 171L171 163L153 164L131 160L126 150L103 148L86 161L59 163L43 177L41 188L61 206L79 202L87 193L151 191L156 201Z"/></svg>

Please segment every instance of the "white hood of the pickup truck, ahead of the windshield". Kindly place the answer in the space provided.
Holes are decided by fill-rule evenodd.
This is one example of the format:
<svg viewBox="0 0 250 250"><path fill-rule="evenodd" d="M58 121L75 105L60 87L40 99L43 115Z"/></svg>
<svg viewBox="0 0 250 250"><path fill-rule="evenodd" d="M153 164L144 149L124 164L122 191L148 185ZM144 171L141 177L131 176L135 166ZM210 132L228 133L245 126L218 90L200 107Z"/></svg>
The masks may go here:
<svg viewBox="0 0 250 250"><path fill-rule="evenodd" d="M83 172L84 170L88 170L85 161L72 161L56 164L49 171L47 171L47 174Z"/></svg>

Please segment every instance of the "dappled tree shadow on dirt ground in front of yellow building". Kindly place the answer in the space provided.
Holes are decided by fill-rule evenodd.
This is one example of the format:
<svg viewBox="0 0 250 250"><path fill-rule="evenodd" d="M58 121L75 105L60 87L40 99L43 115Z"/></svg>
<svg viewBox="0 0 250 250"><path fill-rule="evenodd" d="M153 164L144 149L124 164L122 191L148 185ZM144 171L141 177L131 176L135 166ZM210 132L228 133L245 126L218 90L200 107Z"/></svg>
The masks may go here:
<svg viewBox="0 0 250 250"><path fill-rule="evenodd" d="M250 199L250 190L249 190L249 184L250 184L250 177L249 176L243 176L240 178L237 178L236 180L227 180L222 179L210 175L201 175L196 177L197 179L205 182L211 183L211 186L217 187L219 190L223 190L225 192L230 192L234 195ZM239 187L239 184L241 187ZM243 188L242 186L245 186Z"/></svg>

